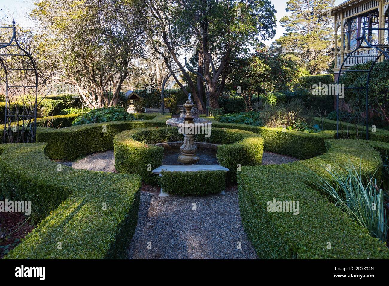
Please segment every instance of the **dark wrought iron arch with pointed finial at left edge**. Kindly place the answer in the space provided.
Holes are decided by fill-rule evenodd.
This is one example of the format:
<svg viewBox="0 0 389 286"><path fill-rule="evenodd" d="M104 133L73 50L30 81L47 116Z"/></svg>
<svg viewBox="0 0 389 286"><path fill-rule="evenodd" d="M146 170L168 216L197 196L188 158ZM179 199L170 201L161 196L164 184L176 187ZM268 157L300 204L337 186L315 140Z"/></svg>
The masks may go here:
<svg viewBox="0 0 389 286"><path fill-rule="evenodd" d="M23 49L12 26L0 27L0 79L5 83L2 142L35 142L37 130L38 74L35 61Z"/></svg>

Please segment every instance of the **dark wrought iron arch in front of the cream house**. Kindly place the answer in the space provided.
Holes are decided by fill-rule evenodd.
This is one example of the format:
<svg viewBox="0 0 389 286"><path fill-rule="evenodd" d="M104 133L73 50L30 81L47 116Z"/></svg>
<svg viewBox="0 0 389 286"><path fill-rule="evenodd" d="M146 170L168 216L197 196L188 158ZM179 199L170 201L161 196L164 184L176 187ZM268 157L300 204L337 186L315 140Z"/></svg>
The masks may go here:
<svg viewBox="0 0 389 286"><path fill-rule="evenodd" d="M365 119L365 123L366 123L366 140L369 140L369 81L370 81L370 75L371 75L371 71L373 70L375 64L377 63L377 61L381 58L381 57L384 57L386 58L387 60L389 60L389 36L388 36L388 39L386 39L387 41L387 44L384 44L384 43L377 43L377 44L373 44L372 40L371 42L369 41L369 39L366 37L366 33L368 33L370 31L370 35L374 34L373 33L373 30L374 31L377 31L377 34L378 34L378 31L380 30L387 30L387 28L369 28L369 27L366 27L366 22L363 24L363 29L362 29L362 35L361 37L357 38L357 41L359 41L359 44L358 46L356 47L356 49L354 49L353 51L351 51L343 60L342 62L342 65L340 65L340 69L339 69L339 77L338 77L338 81L337 81L337 91L338 93L336 94L336 138L339 139L339 91L340 91L340 77L341 77L341 73L342 72L367 72L367 76L366 76L366 87L354 87L354 86L347 86L345 87L345 89L357 89L359 91L366 91L366 116L365 117L360 117L360 118L363 118ZM366 44L366 46L363 46L363 44ZM370 49L376 49L377 51L377 55L355 55L354 53L355 52L358 52L359 49L364 49L364 48L370 48ZM355 70L351 67L351 69L347 69L347 70L343 70L342 71L342 68L343 66L345 65L346 61L348 58L371 58L371 67L368 69L368 70Z"/></svg>

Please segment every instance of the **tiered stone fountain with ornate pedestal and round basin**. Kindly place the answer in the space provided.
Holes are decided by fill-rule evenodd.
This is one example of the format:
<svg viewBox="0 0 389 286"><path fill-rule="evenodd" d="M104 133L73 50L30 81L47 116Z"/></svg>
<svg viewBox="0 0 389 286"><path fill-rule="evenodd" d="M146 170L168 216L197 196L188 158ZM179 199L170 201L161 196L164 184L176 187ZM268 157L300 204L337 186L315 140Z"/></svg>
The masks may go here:
<svg viewBox="0 0 389 286"><path fill-rule="evenodd" d="M185 115L180 118L172 118L166 121L167 125L177 126L179 132L184 134L184 144L180 147L180 155L177 160L186 165L194 164L200 159L197 156L197 146L195 144L196 134L204 130L204 128L210 128L212 125L210 120L192 116L191 110L193 106L191 94L189 93L188 100L184 104Z"/></svg>

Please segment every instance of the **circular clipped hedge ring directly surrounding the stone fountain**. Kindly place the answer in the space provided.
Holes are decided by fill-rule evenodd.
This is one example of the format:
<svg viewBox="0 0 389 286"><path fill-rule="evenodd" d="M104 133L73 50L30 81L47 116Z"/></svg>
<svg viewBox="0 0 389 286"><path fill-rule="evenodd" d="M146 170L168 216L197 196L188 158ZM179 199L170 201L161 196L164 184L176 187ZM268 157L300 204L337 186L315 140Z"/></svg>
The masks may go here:
<svg viewBox="0 0 389 286"><path fill-rule="evenodd" d="M150 146L160 142L182 141L175 127L133 129L114 138L115 168L118 172L137 174L147 183L158 177L151 170L162 165L163 147ZM220 165L230 169L229 178L236 181L237 165L261 165L263 139L252 132L212 128L210 137L196 135L196 141L223 144L217 148ZM149 167L149 164L151 167Z"/></svg>

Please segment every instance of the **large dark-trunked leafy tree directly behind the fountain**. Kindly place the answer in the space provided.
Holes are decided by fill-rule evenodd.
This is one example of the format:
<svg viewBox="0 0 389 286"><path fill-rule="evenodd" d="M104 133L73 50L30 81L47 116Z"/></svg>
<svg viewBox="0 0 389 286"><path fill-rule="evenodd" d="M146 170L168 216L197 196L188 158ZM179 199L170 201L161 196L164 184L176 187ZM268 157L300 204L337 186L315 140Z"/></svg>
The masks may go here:
<svg viewBox="0 0 389 286"><path fill-rule="evenodd" d="M268 0L145 1L151 14L149 35L157 51L167 47L175 66L182 69L182 55L198 47L199 71L203 72L213 108L219 107L217 97L224 88L230 59L275 35L275 10ZM170 71L175 68L171 63L166 65ZM200 112L205 112L203 98L197 94L201 77L196 83L188 72L183 71L182 76ZM187 93L177 77L174 79Z"/></svg>

